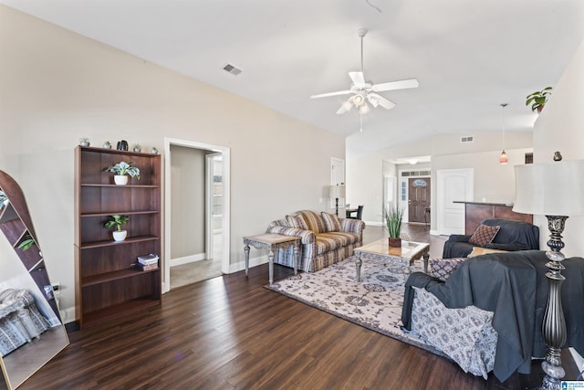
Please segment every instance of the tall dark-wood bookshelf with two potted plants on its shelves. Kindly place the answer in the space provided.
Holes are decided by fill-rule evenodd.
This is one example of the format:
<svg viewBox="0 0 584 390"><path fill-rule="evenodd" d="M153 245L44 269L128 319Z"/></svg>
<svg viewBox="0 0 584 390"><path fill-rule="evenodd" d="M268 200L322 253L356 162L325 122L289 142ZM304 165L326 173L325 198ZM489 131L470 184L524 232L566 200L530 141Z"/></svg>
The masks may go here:
<svg viewBox="0 0 584 390"><path fill-rule="evenodd" d="M120 161L140 168L141 179L113 184L105 169ZM75 305L79 325L161 302L161 269L135 267L140 255L161 259L161 156L78 146L75 181ZM115 242L103 227L111 215L130 216L128 237Z"/></svg>

